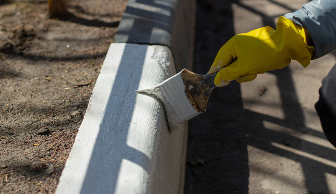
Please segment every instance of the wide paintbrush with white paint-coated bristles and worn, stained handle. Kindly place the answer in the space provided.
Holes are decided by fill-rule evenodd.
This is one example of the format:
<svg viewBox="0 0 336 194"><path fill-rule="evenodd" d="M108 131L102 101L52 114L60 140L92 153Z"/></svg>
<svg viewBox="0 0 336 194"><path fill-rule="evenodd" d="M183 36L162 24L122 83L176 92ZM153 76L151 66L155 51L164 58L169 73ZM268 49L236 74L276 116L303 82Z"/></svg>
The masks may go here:
<svg viewBox="0 0 336 194"><path fill-rule="evenodd" d="M216 73L201 75L182 69L166 81L137 92L161 102L168 129L172 133L187 120L205 112L210 94L216 87L214 84Z"/></svg>

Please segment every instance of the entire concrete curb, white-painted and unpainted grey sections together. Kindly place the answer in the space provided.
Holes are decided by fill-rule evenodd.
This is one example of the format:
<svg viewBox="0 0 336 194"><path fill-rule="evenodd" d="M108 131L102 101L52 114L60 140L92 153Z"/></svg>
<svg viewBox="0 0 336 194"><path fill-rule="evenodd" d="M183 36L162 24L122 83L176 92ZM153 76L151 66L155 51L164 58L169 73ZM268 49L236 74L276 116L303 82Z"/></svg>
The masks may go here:
<svg viewBox="0 0 336 194"><path fill-rule="evenodd" d="M110 46L56 194L184 191L187 123L170 134L162 105L135 90L192 67L195 2L148 1L129 1L115 42L127 39Z"/></svg>

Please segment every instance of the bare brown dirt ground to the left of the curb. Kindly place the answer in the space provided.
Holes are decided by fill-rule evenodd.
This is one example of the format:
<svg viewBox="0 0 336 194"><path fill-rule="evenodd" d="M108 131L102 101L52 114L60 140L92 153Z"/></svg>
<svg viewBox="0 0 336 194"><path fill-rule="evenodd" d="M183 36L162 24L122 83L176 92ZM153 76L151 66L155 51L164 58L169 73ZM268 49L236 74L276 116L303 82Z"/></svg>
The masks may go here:
<svg viewBox="0 0 336 194"><path fill-rule="evenodd" d="M55 192L126 4L0 1L0 194Z"/></svg>

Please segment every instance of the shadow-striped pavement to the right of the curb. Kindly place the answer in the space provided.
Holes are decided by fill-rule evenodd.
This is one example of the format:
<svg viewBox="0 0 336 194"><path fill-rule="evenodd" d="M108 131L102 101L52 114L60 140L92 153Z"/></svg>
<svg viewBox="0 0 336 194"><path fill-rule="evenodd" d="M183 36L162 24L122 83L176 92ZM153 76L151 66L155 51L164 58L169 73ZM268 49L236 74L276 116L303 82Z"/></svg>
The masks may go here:
<svg viewBox="0 0 336 194"><path fill-rule="evenodd" d="M200 1L195 71L205 73L233 35L293 12L306 0ZM314 108L336 52L307 68L258 75L211 95L207 112L189 122L186 194L336 193L336 149L325 139ZM202 162L197 162L202 161Z"/></svg>

